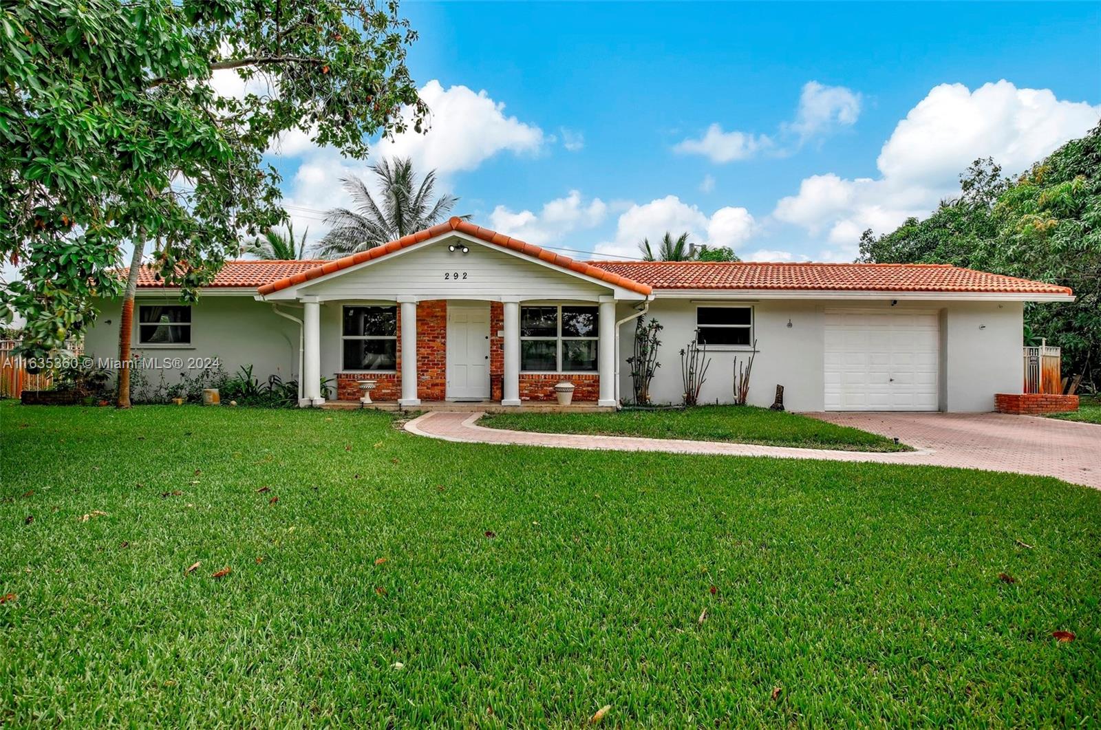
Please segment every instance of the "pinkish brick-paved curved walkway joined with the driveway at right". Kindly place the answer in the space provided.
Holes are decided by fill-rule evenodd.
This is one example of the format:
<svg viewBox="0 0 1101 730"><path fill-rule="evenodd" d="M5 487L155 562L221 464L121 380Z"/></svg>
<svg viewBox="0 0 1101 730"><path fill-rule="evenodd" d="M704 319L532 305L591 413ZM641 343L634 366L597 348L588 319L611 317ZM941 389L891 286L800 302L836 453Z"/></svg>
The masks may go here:
<svg viewBox="0 0 1101 730"><path fill-rule="evenodd" d="M513 444L619 451L667 451L785 459L877 461L1058 477L1101 489L1101 426L996 413L813 413L824 421L897 436L916 451L875 454L827 449L754 446L633 436L541 434L486 428L480 413L426 413L405 424L418 436L449 442Z"/></svg>

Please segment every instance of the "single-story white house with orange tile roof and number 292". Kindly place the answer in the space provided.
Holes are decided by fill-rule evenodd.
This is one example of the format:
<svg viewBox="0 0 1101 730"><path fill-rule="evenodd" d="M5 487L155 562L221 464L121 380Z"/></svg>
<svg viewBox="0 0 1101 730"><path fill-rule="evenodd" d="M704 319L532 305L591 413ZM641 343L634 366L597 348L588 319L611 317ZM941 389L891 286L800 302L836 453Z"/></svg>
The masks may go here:
<svg viewBox="0 0 1101 730"><path fill-rule="evenodd" d="M655 403L682 401L679 351L697 340L700 402L733 400L733 359L755 346L755 405L781 384L793 411L974 412L1021 392L1024 303L1072 299L939 264L581 262L453 218L335 261L231 261L190 305L142 271L133 342L173 369L217 357L297 379L304 406L325 403L323 379L341 401L374 380L374 400L405 407L515 406L569 381L575 401L614 406L645 316L664 327ZM110 358L120 304L101 304L86 350Z"/></svg>

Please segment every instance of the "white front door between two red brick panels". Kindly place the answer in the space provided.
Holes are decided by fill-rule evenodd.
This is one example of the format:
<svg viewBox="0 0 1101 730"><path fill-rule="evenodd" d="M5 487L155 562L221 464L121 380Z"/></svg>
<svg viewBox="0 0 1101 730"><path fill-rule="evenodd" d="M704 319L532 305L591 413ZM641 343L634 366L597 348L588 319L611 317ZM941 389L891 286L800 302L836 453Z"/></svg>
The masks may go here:
<svg viewBox="0 0 1101 730"><path fill-rule="evenodd" d="M447 397L489 399L489 304L447 303Z"/></svg>

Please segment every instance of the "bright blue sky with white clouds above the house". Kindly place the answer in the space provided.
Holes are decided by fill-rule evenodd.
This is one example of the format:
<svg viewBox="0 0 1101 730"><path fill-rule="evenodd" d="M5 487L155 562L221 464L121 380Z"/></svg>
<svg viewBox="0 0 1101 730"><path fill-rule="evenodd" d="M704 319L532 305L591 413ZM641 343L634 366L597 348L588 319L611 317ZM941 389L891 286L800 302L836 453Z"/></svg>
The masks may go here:
<svg viewBox="0 0 1101 730"><path fill-rule="evenodd" d="M970 160L1020 172L1101 118L1098 3L403 13L435 119L375 154L438 168L476 222L602 258L669 229L743 258L851 260L860 230L928 211ZM315 237L363 164L299 138L274 159Z"/></svg>

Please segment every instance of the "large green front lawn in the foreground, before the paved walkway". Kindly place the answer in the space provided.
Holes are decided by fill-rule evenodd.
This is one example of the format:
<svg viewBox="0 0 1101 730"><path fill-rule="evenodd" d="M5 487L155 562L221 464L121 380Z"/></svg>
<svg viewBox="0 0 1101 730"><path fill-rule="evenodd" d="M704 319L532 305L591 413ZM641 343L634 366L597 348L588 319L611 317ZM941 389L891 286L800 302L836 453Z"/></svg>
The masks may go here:
<svg viewBox="0 0 1101 730"><path fill-rule="evenodd" d="M4 403L0 428L3 726L1099 721L1088 488L377 412Z"/></svg>

